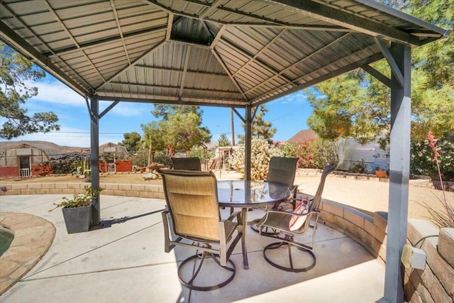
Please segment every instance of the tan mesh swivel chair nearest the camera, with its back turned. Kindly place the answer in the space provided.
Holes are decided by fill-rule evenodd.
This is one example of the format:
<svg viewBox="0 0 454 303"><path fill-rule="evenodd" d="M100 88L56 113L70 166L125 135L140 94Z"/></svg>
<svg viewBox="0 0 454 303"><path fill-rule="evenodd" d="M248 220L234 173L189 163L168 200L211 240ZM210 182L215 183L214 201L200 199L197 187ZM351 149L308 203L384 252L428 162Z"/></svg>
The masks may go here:
<svg viewBox="0 0 454 303"><path fill-rule="evenodd" d="M196 250L194 255L183 260L178 266L179 281L189 289L201 291L216 290L227 285L236 273L235 264L229 259L243 236L238 228L240 212L236 211L228 219L221 220L217 182L213 172L158 171L162 176L167 204L167 209L162 211L165 252L170 253L175 246ZM235 218L236 221L233 221ZM235 231L237 231L236 236L234 236ZM206 283L203 282L206 280L206 275L199 275L199 273L206 272L202 265L209 260L214 260L215 268L219 265L223 270L217 273L209 272L210 283ZM187 278L188 270L189 278ZM227 278L222 282L212 285L214 277L226 275Z"/></svg>

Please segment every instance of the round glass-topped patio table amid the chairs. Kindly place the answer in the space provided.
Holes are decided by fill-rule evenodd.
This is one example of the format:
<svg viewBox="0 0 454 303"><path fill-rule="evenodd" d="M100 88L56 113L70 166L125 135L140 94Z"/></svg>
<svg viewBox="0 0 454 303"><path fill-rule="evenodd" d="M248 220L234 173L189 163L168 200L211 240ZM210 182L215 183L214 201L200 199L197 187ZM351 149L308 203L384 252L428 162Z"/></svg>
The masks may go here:
<svg viewBox="0 0 454 303"><path fill-rule="evenodd" d="M246 180L218 181L218 203L222 207L241 208L240 228L243 231L243 266L247 270L248 250L246 248L246 227L248 211L251 208L272 206L291 197L292 192L284 184L277 182L257 182Z"/></svg>

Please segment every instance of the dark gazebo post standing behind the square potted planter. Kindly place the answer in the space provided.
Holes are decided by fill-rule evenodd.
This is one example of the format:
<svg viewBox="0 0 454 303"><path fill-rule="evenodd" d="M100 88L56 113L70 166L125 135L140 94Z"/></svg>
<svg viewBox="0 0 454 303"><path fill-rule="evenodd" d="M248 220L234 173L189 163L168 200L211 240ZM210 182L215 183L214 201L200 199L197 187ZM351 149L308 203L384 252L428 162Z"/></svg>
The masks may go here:
<svg viewBox="0 0 454 303"><path fill-rule="evenodd" d="M90 96L90 165L92 176L92 191L99 189L99 98ZM101 221L101 197L92 200L92 224L99 225Z"/></svg>

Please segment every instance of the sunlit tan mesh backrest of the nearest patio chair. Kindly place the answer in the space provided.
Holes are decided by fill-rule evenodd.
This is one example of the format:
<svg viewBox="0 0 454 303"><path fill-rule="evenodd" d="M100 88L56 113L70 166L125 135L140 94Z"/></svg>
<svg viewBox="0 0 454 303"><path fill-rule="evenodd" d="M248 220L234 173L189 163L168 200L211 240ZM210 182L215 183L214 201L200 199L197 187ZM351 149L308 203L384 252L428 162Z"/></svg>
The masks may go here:
<svg viewBox="0 0 454 303"><path fill-rule="evenodd" d="M219 241L220 220L213 172L158 170L176 235Z"/></svg>

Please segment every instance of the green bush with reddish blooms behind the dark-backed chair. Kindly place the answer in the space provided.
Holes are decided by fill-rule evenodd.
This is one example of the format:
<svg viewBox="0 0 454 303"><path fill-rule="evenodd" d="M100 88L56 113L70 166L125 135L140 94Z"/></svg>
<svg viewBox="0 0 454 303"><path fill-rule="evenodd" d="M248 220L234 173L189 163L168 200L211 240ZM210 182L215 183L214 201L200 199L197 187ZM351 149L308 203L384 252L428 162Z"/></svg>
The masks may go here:
<svg viewBox="0 0 454 303"><path fill-rule="evenodd" d="M287 142L282 147L285 157L299 158L298 167L318 168L337 165L339 162L336 144L333 141L316 138L299 143Z"/></svg>

